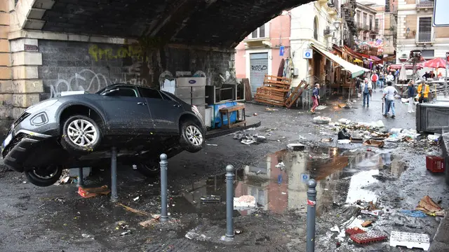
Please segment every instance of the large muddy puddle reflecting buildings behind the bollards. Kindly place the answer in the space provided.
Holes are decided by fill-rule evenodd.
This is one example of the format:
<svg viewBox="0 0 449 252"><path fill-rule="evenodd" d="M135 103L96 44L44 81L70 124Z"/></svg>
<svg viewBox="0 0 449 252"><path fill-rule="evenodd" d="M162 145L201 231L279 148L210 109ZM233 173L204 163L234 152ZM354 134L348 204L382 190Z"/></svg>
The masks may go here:
<svg viewBox="0 0 449 252"><path fill-rule="evenodd" d="M257 209L278 214L290 210L305 212L306 183L315 179L317 214L322 214L333 207L334 202L376 200L377 196L364 188L382 180L380 174L397 178L404 169L404 165L388 152L322 147L307 151L283 150L267 155L256 166L236 170L234 197L255 197L256 209L239 209L241 215L252 214ZM170 211L197 213L211 219L225 218L225 173L198 181L183 191L182 197L173 199L175 206L170 207ZM208 196L208 203L204 203L205 196Z"/></svg>

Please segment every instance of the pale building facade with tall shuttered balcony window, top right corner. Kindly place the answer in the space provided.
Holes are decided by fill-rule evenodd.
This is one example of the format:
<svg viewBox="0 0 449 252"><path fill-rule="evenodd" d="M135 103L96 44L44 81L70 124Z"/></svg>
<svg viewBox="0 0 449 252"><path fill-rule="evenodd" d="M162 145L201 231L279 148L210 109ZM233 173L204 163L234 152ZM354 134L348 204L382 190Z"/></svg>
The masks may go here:
<svg viewBox="0 0 449 252"><path fill-rule="evenodd" d="M445 57L449 52L449 27L433 27L434 1L398 1L396 63L408 59L411 50L421 50L424 59Z"/></svg>

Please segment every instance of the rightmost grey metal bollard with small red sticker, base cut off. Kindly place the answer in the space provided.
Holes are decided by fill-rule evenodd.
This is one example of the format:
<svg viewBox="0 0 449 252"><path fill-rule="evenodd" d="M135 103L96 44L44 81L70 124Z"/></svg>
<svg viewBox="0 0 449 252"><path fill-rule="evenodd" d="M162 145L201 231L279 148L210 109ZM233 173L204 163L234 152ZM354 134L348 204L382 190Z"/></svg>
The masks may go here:
<svg viewBox="0 0 449 252"><path fill-rule="evenodd" d="M307 252L315 251L316 181L307 181Z"/></svg>

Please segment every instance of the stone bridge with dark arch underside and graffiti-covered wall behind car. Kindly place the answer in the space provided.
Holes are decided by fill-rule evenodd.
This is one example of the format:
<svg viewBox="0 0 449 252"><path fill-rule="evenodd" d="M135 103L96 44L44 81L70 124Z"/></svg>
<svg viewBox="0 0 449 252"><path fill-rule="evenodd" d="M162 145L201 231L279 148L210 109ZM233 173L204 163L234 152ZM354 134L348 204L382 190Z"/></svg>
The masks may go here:
<svg viewBox="0 0 449 252"><path fill-rule="evenodd" d="M0 0L0 118L64 91L112 83L157 88L199 73L216 85L235 73L239 41L308 2Z"/></svg>

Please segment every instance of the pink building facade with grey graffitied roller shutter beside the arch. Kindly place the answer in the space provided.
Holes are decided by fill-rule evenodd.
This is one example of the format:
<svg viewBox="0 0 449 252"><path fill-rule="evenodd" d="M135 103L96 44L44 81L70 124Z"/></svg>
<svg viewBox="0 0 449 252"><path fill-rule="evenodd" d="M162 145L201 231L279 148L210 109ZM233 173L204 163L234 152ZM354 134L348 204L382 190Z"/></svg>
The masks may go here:
<svg viewBox="0 0 449 252"><path fill-rule="evenodd" d="M236 78L249 78L251 93L265 74L277 75L283 58L290 57L290 12L270 20L236 46Z"/></svg>

